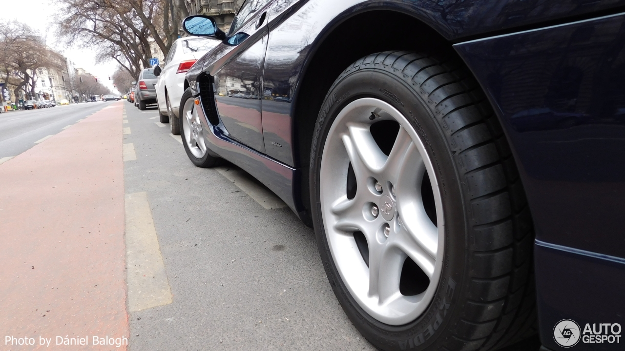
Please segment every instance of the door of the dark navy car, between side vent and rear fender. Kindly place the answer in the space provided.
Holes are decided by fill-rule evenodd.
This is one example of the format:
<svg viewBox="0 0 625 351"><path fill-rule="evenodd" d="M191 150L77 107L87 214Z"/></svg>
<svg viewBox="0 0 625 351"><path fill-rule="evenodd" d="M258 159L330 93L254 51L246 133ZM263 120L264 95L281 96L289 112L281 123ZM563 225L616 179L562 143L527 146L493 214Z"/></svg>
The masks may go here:
<svg viewBox="0 0 625 351"><path fill-rule="evenodd" d="M267 49L266 17L273 0L247 0L232 21L226 39L232 50L211 70L217 113L232 139L264 152L261 96ZM226 50L227 51L227 50Z"/></svg>

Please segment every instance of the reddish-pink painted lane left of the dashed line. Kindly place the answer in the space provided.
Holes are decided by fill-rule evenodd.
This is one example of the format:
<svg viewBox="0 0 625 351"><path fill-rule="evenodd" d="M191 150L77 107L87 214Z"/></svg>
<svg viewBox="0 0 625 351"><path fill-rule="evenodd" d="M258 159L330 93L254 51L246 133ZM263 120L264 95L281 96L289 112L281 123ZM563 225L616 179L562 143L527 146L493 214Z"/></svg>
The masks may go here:
<svg viewBox="0 0 625 351"><path fill-rule="evenodd" d="M0 165L2 350L126 350L122 109Z"/></svg>

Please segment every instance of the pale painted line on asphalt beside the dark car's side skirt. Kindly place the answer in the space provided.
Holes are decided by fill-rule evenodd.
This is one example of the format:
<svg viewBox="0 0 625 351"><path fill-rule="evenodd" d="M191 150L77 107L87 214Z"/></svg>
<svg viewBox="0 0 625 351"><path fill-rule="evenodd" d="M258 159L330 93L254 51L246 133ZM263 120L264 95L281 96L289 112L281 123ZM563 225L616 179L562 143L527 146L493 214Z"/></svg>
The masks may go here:
<svg viewBox="0 0 625 351"><path fill-rule="evenodd" d="M286 204L277 197L271 190L267 189L260 182L247 172L233 167L215 167L217 172L221 173L227 180L234 183L239 189L246 192L249 197L256 200L262 207L267 210L281 209Z"/></svg>

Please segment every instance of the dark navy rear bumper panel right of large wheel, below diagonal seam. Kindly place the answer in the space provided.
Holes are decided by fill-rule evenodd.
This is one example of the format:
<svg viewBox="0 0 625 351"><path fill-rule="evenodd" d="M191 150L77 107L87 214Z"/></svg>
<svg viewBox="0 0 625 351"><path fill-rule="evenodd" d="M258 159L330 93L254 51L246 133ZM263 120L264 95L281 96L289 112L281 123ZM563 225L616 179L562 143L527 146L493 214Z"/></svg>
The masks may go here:
<svg viewBox="0 0 625 351"><path fill-rule="evenodd" d="M614 14L455 46L521 174L536 229L541 339L553 349L559 320L625 324L614 295L625 281L624 44L625 14Z"/></svg>

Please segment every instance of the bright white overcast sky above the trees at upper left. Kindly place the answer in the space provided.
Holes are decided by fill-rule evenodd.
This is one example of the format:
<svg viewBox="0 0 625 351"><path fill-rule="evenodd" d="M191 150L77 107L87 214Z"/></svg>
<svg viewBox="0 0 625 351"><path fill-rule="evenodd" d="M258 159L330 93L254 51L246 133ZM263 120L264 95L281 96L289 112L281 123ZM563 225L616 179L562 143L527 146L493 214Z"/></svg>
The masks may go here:
<svg viewBox="0 0 625 351"><path fill-rule="evenodd" d="M39 31L41 36L46 38L46 43L55 51L60 52L63 56L68 57L71 61L76 62L76 67L81 67L85 71L98 77L98 81L102 82L109 89L113 90L113 81L109 81L109 76L113 76L113 72L117 68L117 62L109 61L102 64L96 64L96 54L93 50L81 49L80 47L64 47L58 42L58 38L54 35L56 28L51 22L56 17L58 4L54 0L0 0L0 21L17 20L26 23L32 29Z"/></svg>

